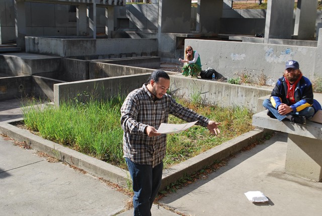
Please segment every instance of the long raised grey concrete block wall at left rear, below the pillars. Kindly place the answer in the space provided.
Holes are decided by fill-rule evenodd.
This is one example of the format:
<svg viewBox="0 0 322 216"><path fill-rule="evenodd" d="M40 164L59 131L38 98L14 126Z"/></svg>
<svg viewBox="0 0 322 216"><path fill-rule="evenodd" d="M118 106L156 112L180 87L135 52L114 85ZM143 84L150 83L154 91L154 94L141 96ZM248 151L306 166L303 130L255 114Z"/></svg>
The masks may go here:
<svg viewBox="0 0 322 216"><path fill-rule="evenodd" d="M61 57L157 55L157 39L64 39L26 37L26 52Z"/></svg>

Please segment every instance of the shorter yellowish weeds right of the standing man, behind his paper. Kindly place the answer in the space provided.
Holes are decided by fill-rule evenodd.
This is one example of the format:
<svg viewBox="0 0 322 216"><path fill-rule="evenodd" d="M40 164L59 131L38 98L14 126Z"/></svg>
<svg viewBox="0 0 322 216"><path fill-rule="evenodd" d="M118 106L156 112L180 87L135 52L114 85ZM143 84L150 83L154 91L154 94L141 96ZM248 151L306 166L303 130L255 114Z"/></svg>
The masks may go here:
<svg viewBox="0 0 322 216"><path fill-rule="evenodd" d="M221 133L218 136L213 136L207 128L193 126L181 133L169 134L167 155L164 160L165 168L197 156L225 141L254 129L252 125L253 113L245 107L207 106L182 99L178 100L178 102L211 120L221 122L219 125ZM169 121L176 124L185 123L183 120L172 115L170 115Z"/></svg>

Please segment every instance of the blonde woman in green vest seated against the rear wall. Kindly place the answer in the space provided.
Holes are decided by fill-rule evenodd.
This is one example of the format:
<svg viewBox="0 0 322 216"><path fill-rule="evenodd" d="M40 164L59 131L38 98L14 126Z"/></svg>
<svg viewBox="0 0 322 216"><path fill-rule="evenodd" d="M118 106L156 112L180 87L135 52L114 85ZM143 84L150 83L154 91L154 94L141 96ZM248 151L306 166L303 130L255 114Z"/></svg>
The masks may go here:
<svg viewBox="0 0 322 216"><path fill-rule="evenodd" d="M185 60L179 58L181 63L184 63L182 75L197 78L201 71L200 55L194 51L191 46L187 46L185 50Z"/></svg>

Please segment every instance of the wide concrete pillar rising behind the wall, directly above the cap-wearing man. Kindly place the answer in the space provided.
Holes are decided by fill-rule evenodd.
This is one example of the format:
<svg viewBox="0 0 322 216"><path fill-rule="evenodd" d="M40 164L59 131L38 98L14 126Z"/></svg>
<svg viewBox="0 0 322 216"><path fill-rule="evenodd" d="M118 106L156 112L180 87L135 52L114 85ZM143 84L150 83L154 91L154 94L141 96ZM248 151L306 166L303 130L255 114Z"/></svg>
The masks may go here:
<svg viewBox="0 0 322 216"><path fill-rule="evenodd" d="M268 43L269 38L291 39L294 32L293 11L294 0L267 2L264 43Z"/></svg>

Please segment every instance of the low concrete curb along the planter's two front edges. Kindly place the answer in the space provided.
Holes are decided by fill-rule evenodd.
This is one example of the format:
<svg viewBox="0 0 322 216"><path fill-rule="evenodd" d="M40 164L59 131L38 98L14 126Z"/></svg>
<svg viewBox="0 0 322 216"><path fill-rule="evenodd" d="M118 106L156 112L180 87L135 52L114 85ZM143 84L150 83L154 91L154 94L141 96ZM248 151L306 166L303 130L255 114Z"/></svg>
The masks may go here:
<svg viewBox="0 0 322 216"><path fill-rule="evenodd" d="M127 187L127 182L130 181L128 171L86 156L82 153L78 153L55 142L43 139L11 124L15 121L21 120L23 120L23 118L1 122L0 133L7 134L18 141L26 142L37 151L47 153L97 177L102 177L113 183ZM252 130L224 142L220 146L204 152L192 159L165 170L160 190L163 190L167 185L176 182L182 178L184 174L191 174L205 166L213 164L215 161L220 161L230 155L236 154L244 147L251 145L254 141L263 137L264 132L262 130Z"/></svg>

